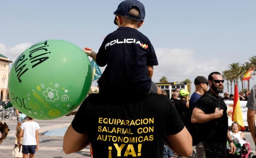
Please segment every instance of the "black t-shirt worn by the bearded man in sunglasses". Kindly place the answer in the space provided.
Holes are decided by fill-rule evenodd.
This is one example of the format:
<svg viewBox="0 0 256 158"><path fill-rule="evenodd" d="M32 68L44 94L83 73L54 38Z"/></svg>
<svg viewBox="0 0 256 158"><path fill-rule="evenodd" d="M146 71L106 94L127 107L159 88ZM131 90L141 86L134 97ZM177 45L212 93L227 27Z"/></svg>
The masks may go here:
<svg viewBox="0 0 256 158"><path fill-rule="evenodd" d="M224 142L227 140L228 132L228 117L227 106L224 101L215 96L210 90L206 92L196 102L196 108L201 109L205 114L212 114L215 108L220 108L223 111L221 118L213 119L208 122L200 124L200 131L203 135L203 141L205 142Z"/></svg>

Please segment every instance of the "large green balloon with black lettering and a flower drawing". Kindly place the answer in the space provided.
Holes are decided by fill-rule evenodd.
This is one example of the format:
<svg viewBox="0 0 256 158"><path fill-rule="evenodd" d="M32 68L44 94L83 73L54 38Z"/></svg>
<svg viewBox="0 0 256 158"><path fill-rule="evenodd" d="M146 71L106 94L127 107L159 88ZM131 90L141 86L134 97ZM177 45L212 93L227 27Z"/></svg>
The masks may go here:
<svg viewBox="0 0 256 158"><path fill-rule="evenodd" d="M88 56L63 40L30 46L9 75L9 97L19 111L35 119L62 117L80 105L92 84Z"/></svg>

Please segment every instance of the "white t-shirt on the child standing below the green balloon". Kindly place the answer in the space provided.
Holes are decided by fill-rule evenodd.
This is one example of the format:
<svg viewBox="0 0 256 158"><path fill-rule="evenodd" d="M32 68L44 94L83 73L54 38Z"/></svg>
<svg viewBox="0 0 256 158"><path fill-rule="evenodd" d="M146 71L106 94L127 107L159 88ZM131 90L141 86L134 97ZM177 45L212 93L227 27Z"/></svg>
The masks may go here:
<svg viewBox="0 0 256 158"><path fill-rule="evenodd" d="M25 121L21 124L21 129L24 130L22 145L37 145L36 130L39 128L39 124L35 121Z"/></svg>

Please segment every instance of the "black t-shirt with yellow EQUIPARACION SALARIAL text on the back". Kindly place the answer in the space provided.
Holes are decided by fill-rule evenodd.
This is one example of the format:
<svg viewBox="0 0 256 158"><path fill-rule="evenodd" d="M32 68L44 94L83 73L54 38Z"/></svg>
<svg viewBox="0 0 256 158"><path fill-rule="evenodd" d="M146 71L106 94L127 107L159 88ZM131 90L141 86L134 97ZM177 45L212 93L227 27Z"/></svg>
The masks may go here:
<svg viewBox="0 0 256 158"><path fill-rule="evenodd" d="M153 94L129 102L90 94L80 106L72 127L88 134L94 158L162 158L165 135L184 125L171 101Z"/></svg>

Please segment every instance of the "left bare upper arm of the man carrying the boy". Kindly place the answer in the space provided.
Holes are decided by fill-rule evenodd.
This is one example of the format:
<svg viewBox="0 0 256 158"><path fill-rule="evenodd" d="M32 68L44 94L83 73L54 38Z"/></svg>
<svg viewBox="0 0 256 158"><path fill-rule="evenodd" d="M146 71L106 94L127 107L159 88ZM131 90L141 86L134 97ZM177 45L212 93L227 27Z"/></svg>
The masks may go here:
<svg viewBox="0 0 256 158"><path fill-rule="evenodd" d="M72 125L67 128L63 139L63 151L66 154L74 153L84 149L90 142L87 141L88 135L81 134L74 130Z"/></svg>

